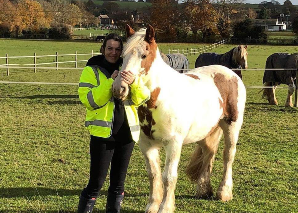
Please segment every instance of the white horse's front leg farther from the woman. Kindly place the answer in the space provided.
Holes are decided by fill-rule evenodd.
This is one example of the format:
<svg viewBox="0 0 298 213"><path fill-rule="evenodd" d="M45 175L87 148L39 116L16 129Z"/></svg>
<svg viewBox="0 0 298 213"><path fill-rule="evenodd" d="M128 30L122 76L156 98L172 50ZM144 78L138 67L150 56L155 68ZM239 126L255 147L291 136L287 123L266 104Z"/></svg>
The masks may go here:
<svg viewBox="0 0 298 213"><path fill-rule="evenodd" d="M170 141L165 146L166 161L162 174L163 199L158 213L173 213L175 209L175 188L178 178L178 164L181 155L182 142Z"/></svg>

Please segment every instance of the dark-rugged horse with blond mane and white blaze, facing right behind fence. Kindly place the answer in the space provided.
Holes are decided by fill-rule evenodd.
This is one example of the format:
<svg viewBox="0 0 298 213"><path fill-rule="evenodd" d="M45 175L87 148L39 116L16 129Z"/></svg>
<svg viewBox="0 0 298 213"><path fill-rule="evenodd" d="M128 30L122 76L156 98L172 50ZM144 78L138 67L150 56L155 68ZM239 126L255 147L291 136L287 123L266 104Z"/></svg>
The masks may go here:
<svg viewBox="0 0 298 213"><path fill-rule="evenodd" d="M224 54L202 53L196 60L195 68L218 64L230 69L247 69L247 55L247 45L239 45ZM241 70L234 72L242 79Z"/></svg>

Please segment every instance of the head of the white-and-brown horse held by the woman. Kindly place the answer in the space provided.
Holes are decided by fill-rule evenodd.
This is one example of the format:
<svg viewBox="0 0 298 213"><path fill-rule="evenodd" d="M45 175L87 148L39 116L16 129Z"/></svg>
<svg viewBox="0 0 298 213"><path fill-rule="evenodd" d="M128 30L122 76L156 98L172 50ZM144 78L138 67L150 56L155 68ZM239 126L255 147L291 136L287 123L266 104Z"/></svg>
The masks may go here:
<svg viewBox="0 0 298 213"><path fill-rule="evenodd" d="M157 54L154 29L149 25L147 29L135 32L129 25L126 25L125 30L129 39L123 50L123 64L120 72L131 71L137 78L147 75ZM122 80L120 73L113 82L112 92L113 96L120 100L125 100L129 94L129 87Z"/></svg>

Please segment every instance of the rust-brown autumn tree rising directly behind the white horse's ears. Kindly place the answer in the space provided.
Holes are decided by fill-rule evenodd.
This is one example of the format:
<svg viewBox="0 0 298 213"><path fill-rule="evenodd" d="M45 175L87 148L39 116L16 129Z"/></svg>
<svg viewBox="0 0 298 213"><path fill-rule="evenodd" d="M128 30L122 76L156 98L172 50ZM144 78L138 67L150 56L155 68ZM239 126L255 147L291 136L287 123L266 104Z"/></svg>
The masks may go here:
<svg viewBox="0 0 298 213"><path fill-rule="evenodd" d="M176 39L175 24L178 18L177 0L154 0L150 23L155 27L157 39L173 42Z"/></svg>

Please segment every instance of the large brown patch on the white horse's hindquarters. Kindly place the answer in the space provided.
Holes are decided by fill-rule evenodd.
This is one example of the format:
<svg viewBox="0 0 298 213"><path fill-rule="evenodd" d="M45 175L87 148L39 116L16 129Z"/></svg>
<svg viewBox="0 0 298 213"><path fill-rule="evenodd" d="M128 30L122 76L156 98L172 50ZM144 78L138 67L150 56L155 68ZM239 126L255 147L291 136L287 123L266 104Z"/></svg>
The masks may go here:
<svg viewBox="0 0 298 213"><path fill-rule="evenodd" d="M223 74L216 73L214 75L214 84L218 88L220 95L222 96L221 101L219 99L220 108L223 109L224 119L228 124L237 121L238 109L237 109L237 98L238 98L238 80L235 76L231 79L227 79Z"/></svg>

